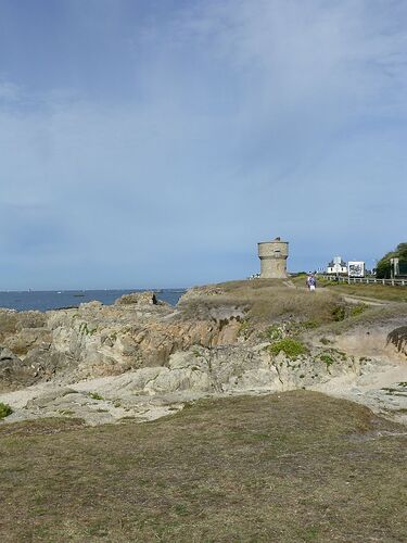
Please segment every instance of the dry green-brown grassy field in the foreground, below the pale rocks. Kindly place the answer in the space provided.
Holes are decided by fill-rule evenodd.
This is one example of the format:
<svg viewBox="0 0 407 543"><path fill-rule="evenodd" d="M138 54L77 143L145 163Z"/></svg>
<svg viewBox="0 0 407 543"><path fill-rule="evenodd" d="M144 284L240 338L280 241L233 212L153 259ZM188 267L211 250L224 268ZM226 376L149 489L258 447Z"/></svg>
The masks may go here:
<svg viewBox="0 0 407 543"><path fill-rule="evenodd" d="M400 542L406 429L313 392L0 426L7 542Z"/></svg>

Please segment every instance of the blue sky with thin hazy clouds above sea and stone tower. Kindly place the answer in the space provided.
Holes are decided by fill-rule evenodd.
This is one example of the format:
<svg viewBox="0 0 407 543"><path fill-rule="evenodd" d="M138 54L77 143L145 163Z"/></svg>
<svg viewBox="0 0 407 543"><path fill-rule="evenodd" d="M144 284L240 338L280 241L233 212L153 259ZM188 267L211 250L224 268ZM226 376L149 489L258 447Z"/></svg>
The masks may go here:
<svg viewBox="0 0 407 543"><path fill-rule="evenodd" d="M407 241L404 0L0 0L0 290Z"/></svg>

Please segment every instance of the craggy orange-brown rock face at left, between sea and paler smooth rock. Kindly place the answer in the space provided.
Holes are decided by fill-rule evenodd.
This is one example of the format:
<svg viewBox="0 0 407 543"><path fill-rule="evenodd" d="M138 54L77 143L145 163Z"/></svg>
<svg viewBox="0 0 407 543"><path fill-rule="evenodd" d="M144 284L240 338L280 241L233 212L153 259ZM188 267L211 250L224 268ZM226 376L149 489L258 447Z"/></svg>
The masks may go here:
<svg viewBox="0 0 407 543"><path fill-rule="evenodd" d="M153 292L126 294L111 306L90 302L46 314L3 311L2 343L20 361L18 371L16 365L9 368L7 387L22 384L23 367L30 368L27 371L36 379L48 380L67 374L79 379L165 366L171 354L191 345L234 343L241 316L239 310L220 308L204 318L186 317L156 303Z"/></svg>

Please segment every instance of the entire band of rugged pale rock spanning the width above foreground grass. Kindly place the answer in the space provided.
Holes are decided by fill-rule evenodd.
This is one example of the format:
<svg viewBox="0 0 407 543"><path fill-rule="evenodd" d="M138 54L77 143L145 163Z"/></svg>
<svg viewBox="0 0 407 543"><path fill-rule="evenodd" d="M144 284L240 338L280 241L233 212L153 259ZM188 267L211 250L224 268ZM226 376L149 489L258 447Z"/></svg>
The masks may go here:
<svg viewBox="0 0 407 543"><path fill-rule="evenodd" d="M154 299L148 292L112 306L0 311L0 401L11 402L10 420L147 420L203 395L298 388L407 413L403 316L340 331L291 314L271 326L258 313L251 320L249 302L218 288L193 289L175 308Z"/></svg>

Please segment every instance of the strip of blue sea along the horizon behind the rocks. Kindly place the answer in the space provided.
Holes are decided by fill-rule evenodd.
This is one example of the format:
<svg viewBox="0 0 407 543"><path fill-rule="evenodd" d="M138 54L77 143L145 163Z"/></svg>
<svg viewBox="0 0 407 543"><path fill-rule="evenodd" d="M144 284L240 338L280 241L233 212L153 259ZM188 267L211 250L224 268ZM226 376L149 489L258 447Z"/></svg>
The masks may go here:
<svg viewBox="0 0 407 543"><path fill-rule="evenodd" d="M130 290L29 290L0 292L0 307L16 311L49 311L78 307L94 300L112 305L115 300L130 292L152 290L157 300L176 305L186 289L130 289Z"/></svg>

